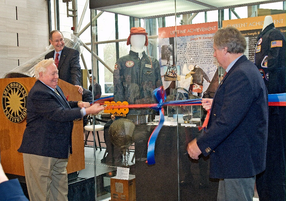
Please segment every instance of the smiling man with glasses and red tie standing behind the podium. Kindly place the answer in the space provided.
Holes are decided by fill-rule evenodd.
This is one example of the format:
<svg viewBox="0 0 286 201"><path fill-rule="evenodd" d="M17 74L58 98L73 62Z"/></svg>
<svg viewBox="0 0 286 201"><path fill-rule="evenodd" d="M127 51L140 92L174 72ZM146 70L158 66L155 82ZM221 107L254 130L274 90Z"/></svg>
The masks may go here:
<svg viewBox="0 0 286 201"><path fill-rule="evenodd" d="M65 46L63 34L58 30L51 31L49 39L55 50L47 53L45 59L55 60L57 53L59 53L57 66L59 79L77 86L79 92L82 93L82 87L80 87L80 53L76 49Z"/></svg>

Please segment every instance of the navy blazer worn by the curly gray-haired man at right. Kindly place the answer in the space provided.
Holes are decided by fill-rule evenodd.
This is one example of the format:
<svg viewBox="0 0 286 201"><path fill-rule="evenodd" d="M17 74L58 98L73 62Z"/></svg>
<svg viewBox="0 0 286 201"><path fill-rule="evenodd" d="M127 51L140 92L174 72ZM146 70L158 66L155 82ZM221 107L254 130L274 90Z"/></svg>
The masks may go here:
<svg viewBox="0 0 286 201"><path fill-rule="evenodd" d="M219 85L205 132L197 140L210 154L211 178L248 178L265 169L268 127L267 89L245 55Z"/></svg>

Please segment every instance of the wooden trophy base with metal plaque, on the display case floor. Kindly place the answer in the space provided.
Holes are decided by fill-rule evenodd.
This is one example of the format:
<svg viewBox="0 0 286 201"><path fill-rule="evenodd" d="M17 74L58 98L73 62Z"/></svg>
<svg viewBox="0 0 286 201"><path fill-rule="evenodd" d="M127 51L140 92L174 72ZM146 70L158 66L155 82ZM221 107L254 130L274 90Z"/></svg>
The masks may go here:
<svg viewBox="0 0 286 201"><path fill-rule="evenodd" d="M128 180L110 178L111 201L136 201L135 175L130 174Z"/></svg>

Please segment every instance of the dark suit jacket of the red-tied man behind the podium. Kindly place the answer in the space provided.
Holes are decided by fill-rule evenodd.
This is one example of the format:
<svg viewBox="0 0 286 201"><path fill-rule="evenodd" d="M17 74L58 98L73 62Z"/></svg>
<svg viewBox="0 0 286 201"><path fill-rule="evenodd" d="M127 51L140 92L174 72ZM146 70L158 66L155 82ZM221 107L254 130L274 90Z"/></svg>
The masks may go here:
<svg viewBox="0 0 286 201"><path fill-rule="evenodd" d="M55 51L46 54L45 59L53 58ZM72 85L80 85L80 53L73 48L64 46L59 58L59 79Z"/></svg>

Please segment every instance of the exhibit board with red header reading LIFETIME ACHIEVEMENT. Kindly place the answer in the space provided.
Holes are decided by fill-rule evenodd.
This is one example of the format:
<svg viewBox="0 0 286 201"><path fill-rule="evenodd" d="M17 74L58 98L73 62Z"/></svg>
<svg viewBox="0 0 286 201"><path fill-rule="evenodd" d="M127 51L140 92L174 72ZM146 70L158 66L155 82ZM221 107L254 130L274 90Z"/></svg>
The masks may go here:
<svg viewBox="0 0 286 201"><path fill-rule="evenodd" d="M165 88L170 81L177 81L177 87L202 97L218 68L213 57L217 29L218 22L158 28L159 63Z"/></svg>

